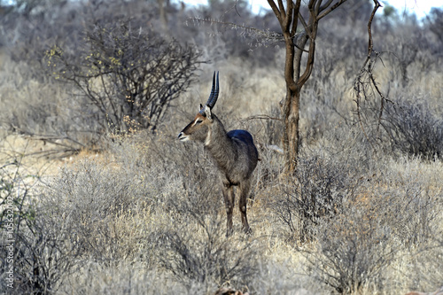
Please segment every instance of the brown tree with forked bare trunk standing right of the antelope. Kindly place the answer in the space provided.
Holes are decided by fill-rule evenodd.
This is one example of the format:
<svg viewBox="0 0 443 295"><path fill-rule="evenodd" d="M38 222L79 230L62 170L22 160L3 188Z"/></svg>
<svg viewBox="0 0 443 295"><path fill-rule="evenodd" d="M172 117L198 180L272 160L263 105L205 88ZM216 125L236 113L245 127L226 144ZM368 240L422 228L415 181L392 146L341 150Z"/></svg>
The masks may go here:
<svg viewBox="0 0 443 295"><path fill-rule="evenodd" d="M284 158L286 172L293 173L299 154L299 101L301 89L312 74L315 60L315 41L319 21L347 0L309 0L302 10L301 0L268 0L280 23L286 49L284 79L286 97L284 114ZM377 0L374 4L379 5ZM305 1L303 1L305 3ZM299 26L302 26L299 29ZM305 47L307 46L307 49ZM303 55L307 54L307 58ZM302 64L304 71L302 71Z"/></svg>

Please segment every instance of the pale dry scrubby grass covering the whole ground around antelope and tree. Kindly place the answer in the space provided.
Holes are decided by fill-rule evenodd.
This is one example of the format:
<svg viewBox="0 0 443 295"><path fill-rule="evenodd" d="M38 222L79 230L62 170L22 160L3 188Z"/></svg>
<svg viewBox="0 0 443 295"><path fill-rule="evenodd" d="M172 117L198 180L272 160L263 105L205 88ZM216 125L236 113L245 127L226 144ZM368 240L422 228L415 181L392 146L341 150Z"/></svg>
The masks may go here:
<svg viewBox="0 0 443 295"><path fill-rule="evenodd" d="M442 159L393 149L385 134L374 148L368 143L350 91L361 60L326 35L322 42L331 45L318 47L319 64L302 95L300 165L291 179L282 175L283 156L272 146L281 146L281 121L253 118L280 115L281 48L272 49L276 59L268 67L218 52L167 110L156 135L107 135L100 151L83 149L63 160L51 159L60 144L75 139L88 145L91 135L79 132L80 123L89 124L82 121L82 105L72 103L67 86L39 81L26 74L24 62L3 56L0 108L8 111L0 114L0 206L13 196L20 225L12 293L214 294L229 287L250 294L364 295L438 289ZM441 58L429 70L425 60L410 63L406 84L398 60L384 61L377 82L392 101L411 104L419 97L429 112L417 116L427 123L441 116ZM214 68L221 73L214 113L228 129L250 130L260 152L248 200L250 236L241 232L237 206L234 235L224 236L214 163L202 146L176 140L206 102L206 74ZM60 130L70 132L53 143L26 136ZM2 215L2 229L4 224ZM1 290L4 278L2 272Z"/></svg>

